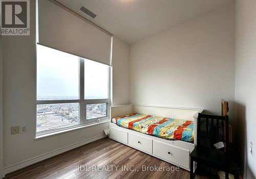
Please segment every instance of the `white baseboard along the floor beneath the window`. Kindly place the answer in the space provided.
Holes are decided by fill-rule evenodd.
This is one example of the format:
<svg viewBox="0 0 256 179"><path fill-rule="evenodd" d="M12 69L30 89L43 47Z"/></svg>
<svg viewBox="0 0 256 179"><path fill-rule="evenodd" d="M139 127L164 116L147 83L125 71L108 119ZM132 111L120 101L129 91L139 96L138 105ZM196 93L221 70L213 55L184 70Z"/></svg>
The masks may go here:
<svg viewBox="0 0 256 179"><path fill-rule="evenodd" d="M37 162L40 162L40 161L49 159L49 158L51 158L51 157L53 157L53 156L55 156L55 155L58 155L58 154L60 154L60 153L63 153L63 152L72 150L72 149L74 149L74 148L80 147L80 146L85 145L85 144L88 144L88 143L90 143L90 142L93 142L93 141L102 139L102 138L104 138L104 137L106 137L106 136L103 135L103 134L102 134L102 135L98 135L98 136L92 137L92 138L90 138L90 139L87 139L87 140L84 140L84 141L81 141L81 142L78 142L78 143L75 143L75 144L72 144L72 145L69 145L69 146L66 146L66 147L62 147L62 148L59 148L59 149L57 149L57 150L54 150L54 151L51 151L51 152L48 152L48 153L45 153L45 154L36 156L36 157L34 157L34 158L25 160L25 161L23 161L23 162L19 162L19 163L16 163L16 164L14 164L14 165L5 167L3 174L7 174L7 173L10 173L10 172L16 171L16 170L18 170L18 169L27 167L27 166L29 166L29 165L35 164L35 163L37 163ZM0 173L0 174L1 174L1 173ZM1 178L1 175L0 175L0 178Z"/></svg>

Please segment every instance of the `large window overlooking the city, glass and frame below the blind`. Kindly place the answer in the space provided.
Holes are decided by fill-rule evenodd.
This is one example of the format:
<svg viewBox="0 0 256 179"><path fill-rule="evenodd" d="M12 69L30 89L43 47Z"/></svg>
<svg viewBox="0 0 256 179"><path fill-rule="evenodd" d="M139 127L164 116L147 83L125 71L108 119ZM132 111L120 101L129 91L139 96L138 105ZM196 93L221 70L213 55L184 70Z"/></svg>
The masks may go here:
<svg viewBox="0 0 256 179"><path fill-rule="evenodd" d="M110 66L37 44L37 135L108 119Z"/></svg>

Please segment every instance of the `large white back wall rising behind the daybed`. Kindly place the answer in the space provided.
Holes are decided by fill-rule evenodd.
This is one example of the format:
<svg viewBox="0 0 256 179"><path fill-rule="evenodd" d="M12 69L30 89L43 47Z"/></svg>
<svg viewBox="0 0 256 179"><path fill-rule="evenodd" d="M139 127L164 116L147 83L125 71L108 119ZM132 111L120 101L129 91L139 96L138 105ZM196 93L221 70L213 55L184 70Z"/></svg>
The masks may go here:
<svg viewBox="0 0 256 179"><path fill-rule="evenodd" d="M234 111L234 4L131 46L131 103Z"/></svg>

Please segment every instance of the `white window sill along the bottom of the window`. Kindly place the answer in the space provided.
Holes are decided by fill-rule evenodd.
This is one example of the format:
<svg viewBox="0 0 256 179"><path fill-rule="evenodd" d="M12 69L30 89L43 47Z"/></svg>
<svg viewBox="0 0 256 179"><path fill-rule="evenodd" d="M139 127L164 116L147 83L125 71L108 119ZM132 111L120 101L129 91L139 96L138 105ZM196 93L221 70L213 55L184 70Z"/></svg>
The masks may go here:
<svg viewBox="0 0 256 179"><path fill-rule="evenodd" d="M60 135L61 133L66 133L66 132L73 131L73 130L92 127L92 126L96 126L96 125L107 123L107 122L110 122L110 119L106 119L104 121L97 122L97 123L92 123L92 124L82 124L82 125L74 126L72 128L69 128L69 129L63 129L63 130L59 130L59 131L55 131L55 132L53 131L51 133L36 135L35 139L36 140L37 139L44 139L44 138Z"/></svg>

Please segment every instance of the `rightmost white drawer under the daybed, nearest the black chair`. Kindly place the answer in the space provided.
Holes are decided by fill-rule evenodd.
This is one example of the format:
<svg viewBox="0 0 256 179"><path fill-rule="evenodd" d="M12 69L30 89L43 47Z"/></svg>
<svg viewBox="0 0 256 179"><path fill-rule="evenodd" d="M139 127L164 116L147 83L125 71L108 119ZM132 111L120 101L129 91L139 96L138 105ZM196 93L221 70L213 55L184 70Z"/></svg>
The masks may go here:
<svg viewBox="0 0 256 179"><path fill-rule="evenodd" d="M162 142L153 141L153 154L160 158L189 168L189 151Z"/></svg>

